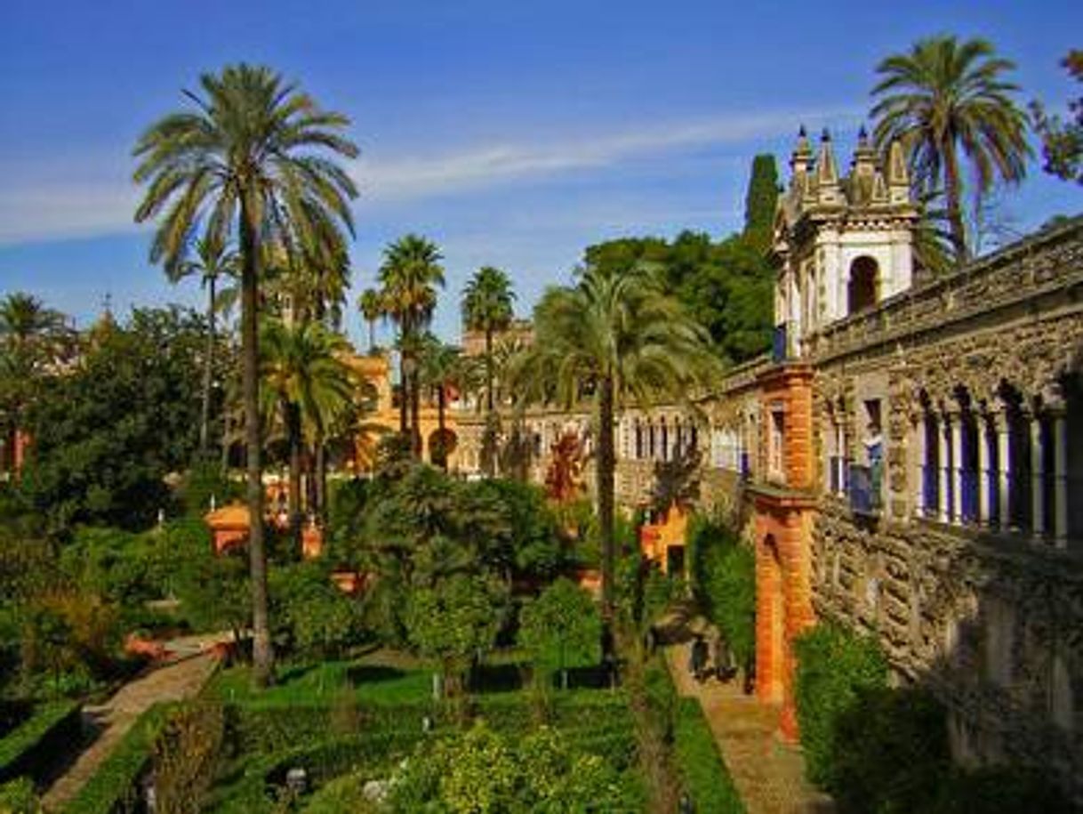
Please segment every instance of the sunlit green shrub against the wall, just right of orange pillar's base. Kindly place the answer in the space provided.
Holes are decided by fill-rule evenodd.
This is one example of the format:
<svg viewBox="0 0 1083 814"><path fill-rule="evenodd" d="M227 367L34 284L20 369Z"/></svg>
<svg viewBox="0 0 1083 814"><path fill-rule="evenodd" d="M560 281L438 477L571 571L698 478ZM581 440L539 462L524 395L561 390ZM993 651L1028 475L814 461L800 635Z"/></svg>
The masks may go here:
<svg viewBox="0 0 1083 814"><path fill-rule="evenodd" d="M872 639L830 623L798 637L794 650L806 772L810 780L826 787L832 766L846 748L836 742L838 722L856 706L860 690L887 686L887 661Z"/></svg>

